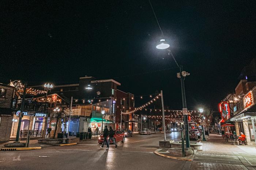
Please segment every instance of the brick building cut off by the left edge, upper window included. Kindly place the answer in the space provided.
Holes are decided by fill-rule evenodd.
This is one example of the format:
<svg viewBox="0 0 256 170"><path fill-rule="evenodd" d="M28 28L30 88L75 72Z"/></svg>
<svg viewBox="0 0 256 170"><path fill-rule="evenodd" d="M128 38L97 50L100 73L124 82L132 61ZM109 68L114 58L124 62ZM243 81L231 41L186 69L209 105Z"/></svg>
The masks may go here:
<svg viewBox="0 0 256 170"><path fill-rule="evenodd" d="M14 87L0 84L0 143L10 140L12 128L11 102Z"/></svg>

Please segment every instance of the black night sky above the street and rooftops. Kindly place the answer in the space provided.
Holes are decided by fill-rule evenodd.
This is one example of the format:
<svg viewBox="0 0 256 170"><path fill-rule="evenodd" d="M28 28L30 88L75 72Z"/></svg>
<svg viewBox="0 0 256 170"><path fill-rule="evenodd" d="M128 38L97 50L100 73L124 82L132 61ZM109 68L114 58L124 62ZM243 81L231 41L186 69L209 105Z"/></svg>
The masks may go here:
<svg viewBox="0 0 256 170"><path fill-rule="evenodd" d="M174 56L191 74L188 108L217 109L255 57L255 2L151 3ZM166 105L182 108L178 68L167 51L155 48L161 32L147 0L1 4L1 78L31 84L113 78L135 95L163 90Z"/></svg>

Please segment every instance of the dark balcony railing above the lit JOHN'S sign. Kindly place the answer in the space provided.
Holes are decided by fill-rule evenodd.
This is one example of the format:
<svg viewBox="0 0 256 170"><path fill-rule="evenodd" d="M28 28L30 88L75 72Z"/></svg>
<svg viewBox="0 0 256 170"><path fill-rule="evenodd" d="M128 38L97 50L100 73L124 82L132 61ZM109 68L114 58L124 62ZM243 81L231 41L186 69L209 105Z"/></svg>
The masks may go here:
<svg viewBox="0 0 256 170"><path fill-rule="evenodd" d="M21 109L22 99L12 99L11 109L12 110L20 110ZM40 111L40 112L48 112L49 103L48 102L36 102L25 100L24 103L24 111Z"/></svg>

